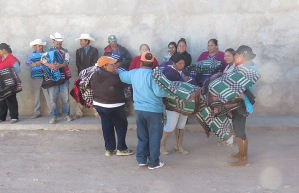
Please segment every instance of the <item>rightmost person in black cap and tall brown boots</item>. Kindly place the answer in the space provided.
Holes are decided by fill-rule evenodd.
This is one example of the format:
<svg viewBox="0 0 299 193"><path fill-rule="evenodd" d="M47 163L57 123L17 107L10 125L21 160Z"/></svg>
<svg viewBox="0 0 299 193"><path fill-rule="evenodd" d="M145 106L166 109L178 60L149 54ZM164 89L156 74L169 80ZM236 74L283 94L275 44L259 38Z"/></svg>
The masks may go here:
<svg viewBox="0 0 299 193"><path fill-rule="evenodd" d="M252 52L252 49L249 46L242 45L240 46L234 54L236 67L238 66L246 66L254 71L258 71L257 66L253 63L252 59L255 58L255 54ZM253 86L248 89L250 92L253 91ZM250 96L247 96L244 92L244 105L239 107L238 109L232 111L232 122L234 127L234 132L236 134L236 142L239 148L239 153L230 155L232 158L238 158L239 160L234 163L230 163L230 166L249 166L248 160L248 139L245 133L245 123L246 117L248 114L253 113L253 105L252 100L249 99ZM251 103L252 102L252 103Z"/></svg>

